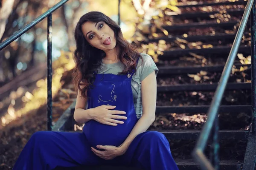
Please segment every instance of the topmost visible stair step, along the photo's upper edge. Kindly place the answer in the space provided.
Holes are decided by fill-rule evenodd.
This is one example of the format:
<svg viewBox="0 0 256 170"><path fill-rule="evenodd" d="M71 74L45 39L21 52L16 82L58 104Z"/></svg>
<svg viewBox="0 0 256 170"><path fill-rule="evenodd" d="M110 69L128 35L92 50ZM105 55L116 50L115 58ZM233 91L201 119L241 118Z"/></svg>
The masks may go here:
<svg viewBox="0 0 256 170"><path fill-rule="evenodd" d="M194 4L193 4L194 3ZM235 2L186 2L186 5L178 5L178 8L192 8L192 7L202 7L202 6L223 6L223 5L246 5L247 1L238 0Z"/></svg>

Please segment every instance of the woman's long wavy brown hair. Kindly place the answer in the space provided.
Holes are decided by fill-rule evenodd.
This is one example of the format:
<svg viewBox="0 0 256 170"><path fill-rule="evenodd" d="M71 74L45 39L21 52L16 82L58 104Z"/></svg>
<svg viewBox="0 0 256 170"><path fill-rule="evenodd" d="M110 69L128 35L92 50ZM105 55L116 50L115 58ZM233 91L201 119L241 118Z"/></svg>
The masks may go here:
<svg viewBox="0 0 256 170"><path fill-rule="evenodd" d="M114 31L116 47L119 51L118 57L124 65L123 71L119 74L127 74L133 69L136 71L136 61L138 57L141 57L137 47L124 39L121 28L110 17L98 11L84 14L79 19L75 29L76 50L74 51L73 58L76 66L73 69L73 83L75 84L76 91L81 91L81 96L85 99L87 98L86 90L89 88L89 85L93 84L95 78L93 73L97 71L97 68L102 63L102 59L106 56L104 51L92 47L84 38L81 26L87 21L94 23L103 21Z"/></svg>

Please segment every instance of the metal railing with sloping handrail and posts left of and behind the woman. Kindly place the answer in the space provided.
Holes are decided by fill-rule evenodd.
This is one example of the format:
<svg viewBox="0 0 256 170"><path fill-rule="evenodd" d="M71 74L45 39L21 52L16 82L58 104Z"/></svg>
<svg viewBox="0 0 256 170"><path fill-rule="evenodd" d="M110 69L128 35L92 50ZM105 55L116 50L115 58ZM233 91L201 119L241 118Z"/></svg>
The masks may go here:
<svg viewBox="0 0 256 170"><path fill-rule="evenodd" d="M41 14L34 21L16 31L7 40L0 43L0 50L5 48L7 45L15 41L22 34L29 31L36 24L44 20L47 17L47 130L52 130L52 12L63 6L69 0L61 0L55 6L50 8L44 14ZM118 24L120 25L120 1L118 0Z"/></svg>

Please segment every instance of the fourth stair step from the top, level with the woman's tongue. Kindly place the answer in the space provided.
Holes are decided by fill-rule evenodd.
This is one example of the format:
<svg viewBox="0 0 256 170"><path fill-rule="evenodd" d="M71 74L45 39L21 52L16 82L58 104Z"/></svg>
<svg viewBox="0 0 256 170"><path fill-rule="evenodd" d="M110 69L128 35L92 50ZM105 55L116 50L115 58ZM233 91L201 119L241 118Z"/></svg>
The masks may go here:
<svg viewBox="0 0 256 170"><path fill-rule="evenodd" d="M245 32L244 35L248 35L249 33ZM183 37L183 36L175 36L175 37L160 37L160 38L155 38L155 39L149 39L147 41L142 41L144 44L148 44L149 42L158 42L159 40L165 40L166 42L174 42L177 40L177 38L186 40L189 42L196 42L196 41L201 41L201 42L208 42L212 40L234 40L236 37L236 34L215 34L215 35L193 35L189 37Z"/></svg>

